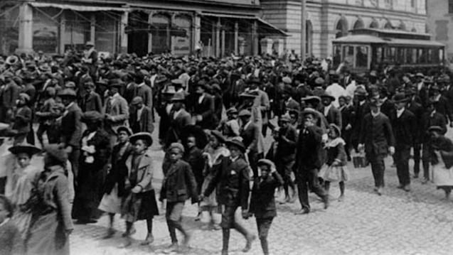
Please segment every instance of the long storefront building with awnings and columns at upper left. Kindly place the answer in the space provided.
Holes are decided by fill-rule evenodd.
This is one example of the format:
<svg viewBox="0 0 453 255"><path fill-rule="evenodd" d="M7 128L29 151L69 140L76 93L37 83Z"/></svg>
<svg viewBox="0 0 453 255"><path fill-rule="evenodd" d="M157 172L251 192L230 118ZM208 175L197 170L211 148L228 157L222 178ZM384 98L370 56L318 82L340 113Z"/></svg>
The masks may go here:
<svg viewBox="0 0 453 255"><path fill-rule="evenodd" d="M259 0L4 0L0 53L62 54L88 41L100 52L137 55L196 50L257 55L272 46L282 49L286 33L260 15Z"/></svg>

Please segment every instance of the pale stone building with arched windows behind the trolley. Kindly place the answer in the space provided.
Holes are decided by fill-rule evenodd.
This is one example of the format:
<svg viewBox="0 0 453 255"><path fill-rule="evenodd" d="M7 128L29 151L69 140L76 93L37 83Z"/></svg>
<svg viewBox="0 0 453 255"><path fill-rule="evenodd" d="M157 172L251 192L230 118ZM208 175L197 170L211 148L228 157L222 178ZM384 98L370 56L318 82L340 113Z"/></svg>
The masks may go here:
<svg viewBox="0 0 453 255"><path fill-rule="evenodd" d="M307 54L332 55L331 40L353 28L426 32L426 0L306 0ZM300 53L301 0L261 0L262 18L286 31L284 48ZM453 28L451 28L453 29Z"/></svg>

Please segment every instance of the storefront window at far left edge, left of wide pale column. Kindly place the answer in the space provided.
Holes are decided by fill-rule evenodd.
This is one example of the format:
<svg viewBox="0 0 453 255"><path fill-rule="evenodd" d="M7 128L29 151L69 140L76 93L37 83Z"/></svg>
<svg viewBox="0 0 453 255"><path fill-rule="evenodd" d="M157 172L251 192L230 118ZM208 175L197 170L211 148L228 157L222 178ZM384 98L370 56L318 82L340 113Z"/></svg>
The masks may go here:
<svg viewBox="0 0 453 255"><path fill-rule="evenodd" d="M4 6L0 9L0 53L11 55L18 48L19 38L19 8L18 6Z"/></svg>

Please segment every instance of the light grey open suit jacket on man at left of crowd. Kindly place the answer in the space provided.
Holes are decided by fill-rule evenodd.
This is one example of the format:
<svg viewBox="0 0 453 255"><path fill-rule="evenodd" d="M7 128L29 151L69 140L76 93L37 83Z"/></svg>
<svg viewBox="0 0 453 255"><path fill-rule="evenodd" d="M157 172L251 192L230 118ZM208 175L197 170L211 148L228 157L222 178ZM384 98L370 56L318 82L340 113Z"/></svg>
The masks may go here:
<svg viewBox="0 0 453 255"><path fill-rule="evenodd" d="M105 102L105 114L112 116L112 120L106 120L105 128L110 133L117 132L119 126L129 126L129 106L126 99L119 94L109 97Z"/></svg>

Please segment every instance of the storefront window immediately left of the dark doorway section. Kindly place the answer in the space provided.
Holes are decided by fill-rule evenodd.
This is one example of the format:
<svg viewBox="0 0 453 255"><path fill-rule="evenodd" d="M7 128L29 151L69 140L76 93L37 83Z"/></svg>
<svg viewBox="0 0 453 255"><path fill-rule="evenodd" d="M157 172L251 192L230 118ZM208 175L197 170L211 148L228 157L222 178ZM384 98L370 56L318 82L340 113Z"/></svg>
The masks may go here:
<svg viewBox="0 0 453 255"><path fill-rule="evenodd" d="M95 48L98 52L114 53L117 45L118 22L112 15L95 13Z"/></svg>

